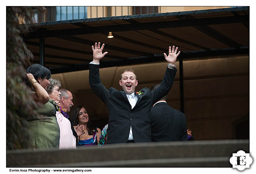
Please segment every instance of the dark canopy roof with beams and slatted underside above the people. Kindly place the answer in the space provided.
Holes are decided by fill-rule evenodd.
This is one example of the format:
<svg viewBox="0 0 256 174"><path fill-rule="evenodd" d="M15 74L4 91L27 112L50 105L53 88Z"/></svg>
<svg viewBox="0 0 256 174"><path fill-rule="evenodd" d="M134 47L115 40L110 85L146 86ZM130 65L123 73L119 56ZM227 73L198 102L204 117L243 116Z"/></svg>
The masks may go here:
<svg viewBox="0 0 256 174"><path fill-rule="evenodd" d="M101 67L163 61L175 45L179 58L249 54L249 7L41 22L25 39L52 74L88 69L92 45L105 44ZM107 38L108 32L114 38ZM44 43L43 43L44 38Z"/></svg>

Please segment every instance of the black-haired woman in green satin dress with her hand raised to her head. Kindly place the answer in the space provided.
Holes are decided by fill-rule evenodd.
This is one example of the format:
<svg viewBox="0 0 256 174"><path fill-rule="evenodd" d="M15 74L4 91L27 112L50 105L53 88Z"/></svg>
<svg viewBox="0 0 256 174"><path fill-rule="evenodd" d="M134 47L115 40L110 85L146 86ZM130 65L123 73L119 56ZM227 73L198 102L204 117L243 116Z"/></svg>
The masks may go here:
<svg viewBox="0 0 256 174"><path fill-rule="evenodd" d="M46 92L50 77L50 70L39 64L33 64L27 69L26 83L32 98L39 105L36 110L39 116L34 115L28 118L26 111L20 109L19 112L29 122L31 145L36 149L59 148L60 146L60 128L56 120L58 107Z"/></svg>

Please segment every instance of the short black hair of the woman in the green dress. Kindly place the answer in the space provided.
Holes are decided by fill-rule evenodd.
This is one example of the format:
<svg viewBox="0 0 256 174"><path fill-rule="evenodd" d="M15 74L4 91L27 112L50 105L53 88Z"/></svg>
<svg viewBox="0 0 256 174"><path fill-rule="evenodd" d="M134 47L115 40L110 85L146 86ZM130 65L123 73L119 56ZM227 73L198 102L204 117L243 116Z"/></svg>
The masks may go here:
<svg viewBox="0 0 256 174"><path fill-rule="evenodd" d="M47 79L51 78L51 71L48 68L46 68L40 64L31 65L30 67L27 68L26 72L31 73L36 80L38 80L39 77L41 77L42 79L43 78L47 78ZM27 81L26 81L26 83L28 84Z"/></svg>

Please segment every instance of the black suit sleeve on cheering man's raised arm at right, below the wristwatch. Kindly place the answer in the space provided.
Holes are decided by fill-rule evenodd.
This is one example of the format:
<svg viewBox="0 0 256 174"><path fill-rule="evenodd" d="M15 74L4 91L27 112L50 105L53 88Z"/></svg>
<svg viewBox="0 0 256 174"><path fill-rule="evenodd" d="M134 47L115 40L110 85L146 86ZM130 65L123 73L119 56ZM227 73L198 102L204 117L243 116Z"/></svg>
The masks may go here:
<svg viewBox="0 0 256 174"><path fill-rule="evenodd" d="M176 75L177 69L170 69L167 67L164 78L159 87L151 91L152 104L156 103L162 97L166 96L173 85L174 77Z"/></svg>

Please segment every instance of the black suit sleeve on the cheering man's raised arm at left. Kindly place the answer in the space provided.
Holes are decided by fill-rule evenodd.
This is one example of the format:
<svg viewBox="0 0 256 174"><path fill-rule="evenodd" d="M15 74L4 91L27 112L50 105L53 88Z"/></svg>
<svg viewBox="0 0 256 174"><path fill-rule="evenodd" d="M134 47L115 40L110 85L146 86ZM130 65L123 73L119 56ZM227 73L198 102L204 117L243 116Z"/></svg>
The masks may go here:
<svg viewBox="0 0 256 174"><path fill-rule="evenodd" d="M106 103L110 91L101 83L99 65L89 64L89 85L94 94Z"/></svg>

